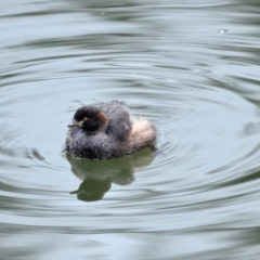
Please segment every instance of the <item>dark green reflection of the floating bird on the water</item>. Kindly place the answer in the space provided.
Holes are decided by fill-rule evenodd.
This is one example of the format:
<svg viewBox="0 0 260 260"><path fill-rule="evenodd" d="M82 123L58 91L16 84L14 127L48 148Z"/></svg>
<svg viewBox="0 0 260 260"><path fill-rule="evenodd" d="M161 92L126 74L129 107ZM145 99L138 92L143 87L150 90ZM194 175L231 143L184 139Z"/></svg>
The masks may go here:
<svg viewBox="0 0 260 260"><path fill-rule="evenodd" d="M152 162L155 151L147 147L133 155L108 160L77 159L68 153L66 157L73 173L82 180L78 190L70 194L77 194L78 199L83 202L96 202L110 190L112 183L131 184L133 173Z"/></svg>

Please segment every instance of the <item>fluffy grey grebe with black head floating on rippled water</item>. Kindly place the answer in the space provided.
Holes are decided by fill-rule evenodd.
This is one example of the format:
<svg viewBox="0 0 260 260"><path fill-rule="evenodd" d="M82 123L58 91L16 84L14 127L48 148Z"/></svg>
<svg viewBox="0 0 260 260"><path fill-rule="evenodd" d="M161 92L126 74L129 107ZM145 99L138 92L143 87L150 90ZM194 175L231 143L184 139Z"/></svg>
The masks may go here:
<svg viewBox="0 0 260 260"><path fill-rule="evenodd" d="M78 108L66 139L66 151L88 159L109 159L154 147L156 132L144 118L135 118L125 103L99 102Z"/></svg>

